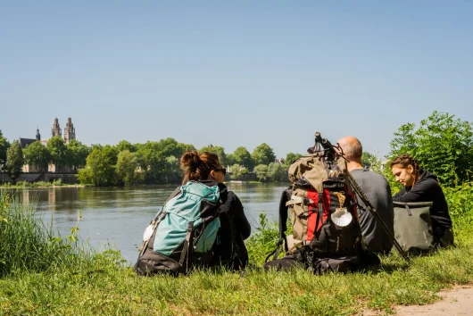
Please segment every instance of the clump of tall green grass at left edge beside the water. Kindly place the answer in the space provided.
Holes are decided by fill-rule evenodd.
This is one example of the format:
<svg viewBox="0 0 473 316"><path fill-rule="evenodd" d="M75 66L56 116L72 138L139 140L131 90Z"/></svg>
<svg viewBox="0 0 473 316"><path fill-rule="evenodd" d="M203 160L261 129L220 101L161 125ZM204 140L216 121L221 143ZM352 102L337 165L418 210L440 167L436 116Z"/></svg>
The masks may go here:
<svg viewBox="0 0 473 316"><path fill-rule="evenodd" d="M12 271L68 269L89 260L90 254L79 247L77 227L71 235L54 235L38 219L36 203L23 203L14 193L0 190L0 277Z"/></svg>

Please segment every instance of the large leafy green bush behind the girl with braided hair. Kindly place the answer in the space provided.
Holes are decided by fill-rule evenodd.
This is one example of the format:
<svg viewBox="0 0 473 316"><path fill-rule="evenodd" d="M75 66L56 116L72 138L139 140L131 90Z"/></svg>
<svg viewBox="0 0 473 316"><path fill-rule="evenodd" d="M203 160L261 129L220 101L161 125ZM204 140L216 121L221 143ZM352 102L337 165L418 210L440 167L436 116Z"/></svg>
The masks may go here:
<svg viewBox="0 0 473 316"><path fill-rule="evenodd" d="M420 121L419 129L407 123L394 136L390 159L399 154L411 154L421 167L436 174L439 182L446 186L454 187L471 180L472 123L434 111L427 120Z"/></svg>

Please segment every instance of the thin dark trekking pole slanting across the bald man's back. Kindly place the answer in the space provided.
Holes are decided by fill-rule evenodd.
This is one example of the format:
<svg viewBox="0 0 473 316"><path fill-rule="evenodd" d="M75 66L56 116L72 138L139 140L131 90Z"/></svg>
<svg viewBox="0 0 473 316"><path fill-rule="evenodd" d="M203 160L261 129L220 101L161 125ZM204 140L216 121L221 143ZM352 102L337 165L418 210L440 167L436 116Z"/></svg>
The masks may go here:
<svg viewBox="0 0 473 316"><path fill-rule="evenodd" d="M336 153L336 150L335 150L334 146L332 146L332 144L330 144L330 142L326 138L320 137L319 132L315 133L315 141L317 143L319 143L324 148L324 150L326 151L326 154L328 154L328 159L333 161L335 159L336 154L338 154L338 153ZM343 153L341 155L343 157ZM360 196L361 200L366 205L366 207L368 208L368 211L371 213L371 215L373 215L375 220L377 220L378 223L381 225L381 227L383 229L385 229L387 237L389 237L391 239L391 241L393 242L395 248L397 249L399 254L401 254L402 258L406 262L411 263L411 260L407 256L406 252L402 249L401 245L399 245L399 243L395 239L394 235L387 228L386 223L379 217L378 212L376 212L376 209L369 202L368 197L364 194L363 190L361 190L361 187L358 185L358 183L356 183L355 179L353 179L352 174L350 172L346 172L346 173L348 174L348 180L349 180L350 184L353 187L353 191L358 196Z"/></svg>

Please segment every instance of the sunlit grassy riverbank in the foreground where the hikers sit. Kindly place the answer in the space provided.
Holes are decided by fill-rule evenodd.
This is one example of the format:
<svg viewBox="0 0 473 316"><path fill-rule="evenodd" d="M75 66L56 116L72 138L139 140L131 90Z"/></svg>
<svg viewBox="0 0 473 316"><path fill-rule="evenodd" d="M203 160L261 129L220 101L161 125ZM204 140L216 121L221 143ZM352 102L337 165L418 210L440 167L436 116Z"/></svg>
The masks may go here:
<svg viewBox="0 0 473 316"><path fill-rule="evenodd" d="M34 220L30 205L2 193L0 314L338 315L426 304L441 288L473 281L473 187L446 195L457 246L413 258L411 266L393 254L365 273L314 276L257 269L197 271L175 279L137 278L117 252L88 254L76 243L75 229L69 237L54 237ZM262 216L261 224L248 241L251 260L260 266L277 238L273 223Z"/></svg>

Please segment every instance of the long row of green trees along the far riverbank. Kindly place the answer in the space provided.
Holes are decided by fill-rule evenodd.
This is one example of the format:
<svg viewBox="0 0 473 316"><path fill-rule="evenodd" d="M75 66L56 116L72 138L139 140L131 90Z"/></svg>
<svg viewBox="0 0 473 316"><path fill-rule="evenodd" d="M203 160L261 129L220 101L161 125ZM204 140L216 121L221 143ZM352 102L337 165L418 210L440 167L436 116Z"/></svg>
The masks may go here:
<svg viewBox="0 0 473 316"><path fill-rule="evenodd" d="M56 172L77 171L81 184L94 186L132 186L134 184L178 183L181 179L179 158L195 146L179 143L174 138L131 144L127 140L116 146L86 146L71 140L64 144L61 137L52 137L47 145L36 141L21 149L18 140L10 144L0 130L0 166L12 179L21 175L24 164L47 172L54 164ZM290 163L302 154L289 153L276 162L273 149L266 143L250 153L244 146L232 154L222 146L203 146L199 152L217 154L223 166L229 167L227 179L244 179L253 172L260 181L286 181Z"/></svg>

